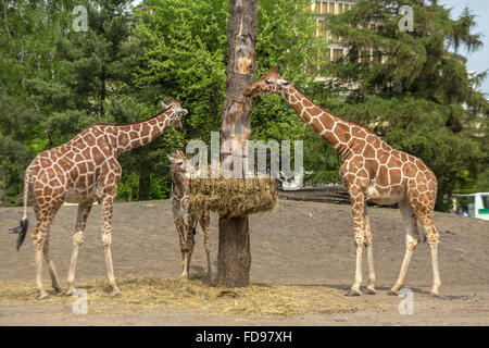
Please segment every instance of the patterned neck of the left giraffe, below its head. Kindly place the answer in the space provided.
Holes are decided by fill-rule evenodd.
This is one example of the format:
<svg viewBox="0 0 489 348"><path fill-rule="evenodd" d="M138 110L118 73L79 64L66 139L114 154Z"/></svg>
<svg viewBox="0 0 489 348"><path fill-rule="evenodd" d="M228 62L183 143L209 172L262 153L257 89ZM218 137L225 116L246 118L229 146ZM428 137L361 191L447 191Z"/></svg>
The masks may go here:
<svg viewBox="0 0 489 348"><path fill-rule="evenodd" d="M168 127L173 110L158 116L115 127L117 154L140 148L158 137Z"/></svg>

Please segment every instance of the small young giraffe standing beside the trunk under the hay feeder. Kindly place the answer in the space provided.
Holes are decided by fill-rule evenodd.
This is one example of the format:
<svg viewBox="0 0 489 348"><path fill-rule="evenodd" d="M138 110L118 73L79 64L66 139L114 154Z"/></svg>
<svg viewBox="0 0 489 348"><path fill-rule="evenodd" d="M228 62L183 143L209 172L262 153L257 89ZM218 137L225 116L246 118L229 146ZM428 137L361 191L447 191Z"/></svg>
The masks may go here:
<svg viewBox="0 0 489 348"><path fill-rule="evenodd" d="M174 183L172 196L172 210L175 226L178 231L180 252L181 252L181 277L188 278L190 269L190 258L192 256L197 223L203 232L204 249L208 256L208 277L212 279L211 270L211 240L209 239L209 225L211 213L209 209L191 208L189 203L189 177L196 174L195 167L190 164L181 150L177 150L173 157L168 156L170 173Z"/></svg>

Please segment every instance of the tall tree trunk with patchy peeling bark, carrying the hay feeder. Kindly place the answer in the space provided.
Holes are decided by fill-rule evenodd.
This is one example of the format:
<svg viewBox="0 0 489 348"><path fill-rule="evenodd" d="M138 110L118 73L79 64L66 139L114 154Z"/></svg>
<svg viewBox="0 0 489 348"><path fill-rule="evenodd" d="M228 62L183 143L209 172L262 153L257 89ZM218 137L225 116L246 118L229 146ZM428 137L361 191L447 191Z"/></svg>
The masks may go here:
<svg viewBox="0 0 489 348"><path fill-rule="evenodd" d="M258 0L230 0L227 44L229 66L221 125L224 162L236 148L223 146L236 140L241 150L251 134L251 99L242 91L254 82ZM243 151L242 151L243 153ZM242 158L241 158L242 160ZM250 235L248 216L220 219L217 282L226 287L250 285Z"/></svg>

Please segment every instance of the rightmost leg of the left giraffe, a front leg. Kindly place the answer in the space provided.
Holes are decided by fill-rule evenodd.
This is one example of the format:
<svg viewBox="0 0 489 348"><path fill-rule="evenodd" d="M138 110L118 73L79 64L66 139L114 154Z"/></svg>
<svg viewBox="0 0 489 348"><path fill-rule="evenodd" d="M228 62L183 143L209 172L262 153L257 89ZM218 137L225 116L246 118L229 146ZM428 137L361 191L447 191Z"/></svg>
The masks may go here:
<svg viewBox="0 0 489 348"><path fill-rule="evenodd" d="M102 198L102 244L103 251L105 253L105 266L106 266L106 277L109 285L112 288L111 296L117 296L121 290L115 284L114 268L112 264L112 212L114 208L114 198L116 194L116 188L111 189Z"/></svg>

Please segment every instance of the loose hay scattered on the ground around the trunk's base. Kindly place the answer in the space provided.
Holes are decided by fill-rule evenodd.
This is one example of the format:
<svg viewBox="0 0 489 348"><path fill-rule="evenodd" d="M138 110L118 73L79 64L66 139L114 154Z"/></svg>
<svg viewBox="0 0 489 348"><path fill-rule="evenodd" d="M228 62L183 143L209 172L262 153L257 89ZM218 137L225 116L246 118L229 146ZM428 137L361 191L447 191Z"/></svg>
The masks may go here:
<svg viewBox="0 0 489 348"><path fill-rule="evenodd" d="M308 313L352 313L391 307L365 303L355 298L344 297L343 291L339 289L328 287L256 284L247 288L223 288L209 282L204 274L195 274L190 281L131 275L118 278L117 285L122 295L110 297L111 289L104 277L77 284L78 288L87 290L89 315L149 313L175 308L251 318L293 318ZM76 300L71 296L55 296L48 282L45 286L50 296L39 301L36 299L37 291L32 282L17 284L0 282L0 306L42 304L59 308L61 304L71 308ZM66 307L63 308L65 312ZM57 307L53 307L52 313L55 314L57 310Z"/></svg>

